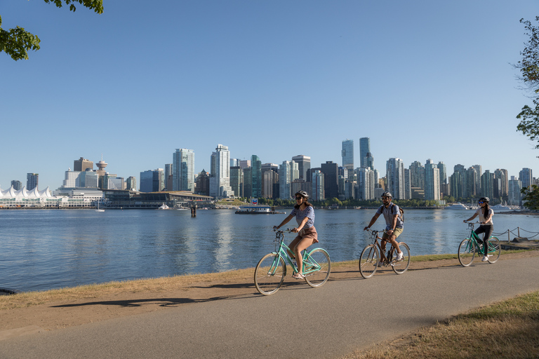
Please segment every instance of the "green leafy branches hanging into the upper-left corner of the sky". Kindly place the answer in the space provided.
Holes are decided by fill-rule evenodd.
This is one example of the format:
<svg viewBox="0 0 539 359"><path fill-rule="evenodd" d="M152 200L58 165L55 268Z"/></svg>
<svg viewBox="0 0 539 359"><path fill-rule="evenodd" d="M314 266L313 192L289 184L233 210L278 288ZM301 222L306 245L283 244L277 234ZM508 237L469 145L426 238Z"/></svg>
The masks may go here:
<svg viewBox="0 0 539 359"><path fill-rule="evenodd" d="M53 3L61 8L64 3L69 5L70 11L76 11L75 3L89 8L95 13L103 13L103 0L44 0L47 4ZM2 18L0 16L0 53L11 56L15 61L28 60L28 50L39 50L41 40L34 34L27 32L24 27L15 27L15 29L2 29Z"/></svg>

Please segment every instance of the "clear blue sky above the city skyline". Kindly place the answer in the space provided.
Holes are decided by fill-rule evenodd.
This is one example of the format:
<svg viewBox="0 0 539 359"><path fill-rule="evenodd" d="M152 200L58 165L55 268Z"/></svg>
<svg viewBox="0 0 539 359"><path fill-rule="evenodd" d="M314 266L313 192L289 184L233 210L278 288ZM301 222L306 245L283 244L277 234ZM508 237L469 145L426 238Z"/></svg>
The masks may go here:
<svg viewBox="0 0 539 359"><path fill-rule="evenodd" d="M531 104L517 72L523 1L104 1L98 15L3 1L2 27L37 34L29 60L0 53L0 188L62 184L79 157L121 177L164 168L175 149L209 171L232 158L341 163L371 138L375 168L428 158L539 174L516 130Z"/></svg>

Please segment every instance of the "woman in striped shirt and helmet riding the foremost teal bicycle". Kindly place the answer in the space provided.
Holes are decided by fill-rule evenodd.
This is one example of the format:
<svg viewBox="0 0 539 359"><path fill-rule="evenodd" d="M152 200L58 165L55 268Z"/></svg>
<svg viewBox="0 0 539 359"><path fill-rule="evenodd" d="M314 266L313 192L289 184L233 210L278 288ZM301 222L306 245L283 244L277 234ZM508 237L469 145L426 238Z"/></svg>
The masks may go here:
<svg viewBox="0 0 539 359"><path fill-rule="evenodd" d="M294 233L298 233L298 236L288 245L294 252L288 251L288 254L295 259L298 264L298 273L293 275L293 278L300 279L305 278L302 273L303 260L301 257L301 251L306 250L310 245L318 242L317 229L314 228L314 209L312 204L307 202L309 194L305 191L299 191L295 194L296 204L290 215L284 219L279 226L274 226L274 229L279 229L284 226L290 220L295 217L295 221L298 222L298 226L292 229Z"/></svg>

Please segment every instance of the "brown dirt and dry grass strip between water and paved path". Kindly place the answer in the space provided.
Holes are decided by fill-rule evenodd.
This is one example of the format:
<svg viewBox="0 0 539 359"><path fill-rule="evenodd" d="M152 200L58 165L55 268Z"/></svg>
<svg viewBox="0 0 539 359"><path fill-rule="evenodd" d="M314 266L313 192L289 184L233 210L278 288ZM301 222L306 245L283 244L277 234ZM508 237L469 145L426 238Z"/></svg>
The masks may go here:
<svg viewBox="0 0 539 359"><path fill-rule="evenodd" d="M502 255L500 260L512 260L524 257L539 257L539 250ZM491 265L478 262L477 265ZM494 264L495 265L495 264ZM412 262L410 271L436 269L444 266L460 266L458 259L444 259L431 262ZM395 274L391 269L382 269L375 276ZM406 274L405 274L406 275ZM357 263L347 266L335 266L329 281L363 280ZM371 279L372 280L372 279ZM380 282L381 284L383 282ZM294 280L287 276L281 290L302 285L311 289L303 280ZM279 292L281 291L279 290ZM275 295L279 295L279 292ZM0 311L0 340L30 332L56 330L85 323L98 322L110 318L133 316L151 311L161 311L166 307L195 305L202 302L233 299L235 297L259 296L253 284L252 273L244 278L222 281L200 281L186 287L177 287L161 292L122 292L79 301L48 302L21 309Z"/></svg>

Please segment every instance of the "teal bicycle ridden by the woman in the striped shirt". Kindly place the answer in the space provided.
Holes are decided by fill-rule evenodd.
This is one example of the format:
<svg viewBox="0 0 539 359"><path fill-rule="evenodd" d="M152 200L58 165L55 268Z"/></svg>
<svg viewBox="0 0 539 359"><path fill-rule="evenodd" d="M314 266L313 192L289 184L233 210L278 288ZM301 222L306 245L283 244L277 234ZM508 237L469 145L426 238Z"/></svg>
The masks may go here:
<svg viewBox="0 0 539 359"><path fill-rule="evenodd" d="M275 232L275 252L262 257L255 268L256 290L264 295L274 294L279 290L286 276L286 262L292 267L293 273L298 273L298 267L288 255L288 250L291 252L292 250L284 244L284 233L291 233L291 230ZM302 273L305 276L305 282L311 287L320 287L326 283L331 272L328 252L322 248L314 248L310 252L304 250L302 258Z"/></svg>

